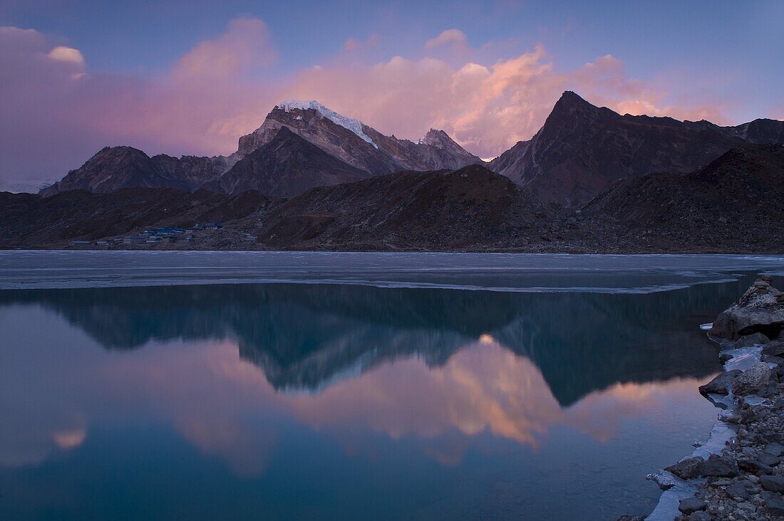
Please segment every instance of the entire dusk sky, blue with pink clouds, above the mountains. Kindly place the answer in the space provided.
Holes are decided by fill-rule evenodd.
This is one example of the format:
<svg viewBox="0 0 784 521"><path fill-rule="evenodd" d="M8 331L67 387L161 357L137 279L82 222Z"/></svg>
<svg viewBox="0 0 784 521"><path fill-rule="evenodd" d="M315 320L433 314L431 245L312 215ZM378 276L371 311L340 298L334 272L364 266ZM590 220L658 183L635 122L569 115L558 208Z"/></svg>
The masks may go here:
<svg viewBox="0 0 784 521"><path fill-rule="evenodd" d="M284 99L493 157L564 90L621 114L784 119L784 2L0 0L0 190L106 146L230 154Z"/></svg>

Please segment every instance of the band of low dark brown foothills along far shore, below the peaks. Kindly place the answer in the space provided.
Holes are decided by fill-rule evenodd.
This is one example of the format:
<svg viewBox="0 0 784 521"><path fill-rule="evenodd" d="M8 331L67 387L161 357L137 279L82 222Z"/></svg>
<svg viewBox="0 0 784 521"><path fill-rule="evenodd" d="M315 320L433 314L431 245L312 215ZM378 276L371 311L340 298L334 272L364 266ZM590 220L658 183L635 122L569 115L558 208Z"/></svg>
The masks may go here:
<svg viewBox="0 0 784 521"><path fill-rule="evenodd" d="M270 143L292 137L281 130ZM0 248L219 222L220 232L154 248L782 253L784 145L744 144L688 174L620 179L576 209L481 165L376 175L289 198L129 187L4 192L0 208Z"/></svg>

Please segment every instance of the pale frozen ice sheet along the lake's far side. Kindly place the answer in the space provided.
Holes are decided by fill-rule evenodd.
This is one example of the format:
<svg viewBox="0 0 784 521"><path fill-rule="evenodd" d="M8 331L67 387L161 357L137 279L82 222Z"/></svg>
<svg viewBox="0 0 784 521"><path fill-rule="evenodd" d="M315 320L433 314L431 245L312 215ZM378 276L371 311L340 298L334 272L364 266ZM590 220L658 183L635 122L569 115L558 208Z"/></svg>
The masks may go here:
<svg viewBox="0 0 784 521"><path fill-rule="evenodd" d="M647 293L780 273L782 256L0 251L0 289L296 282Z"/></svg>

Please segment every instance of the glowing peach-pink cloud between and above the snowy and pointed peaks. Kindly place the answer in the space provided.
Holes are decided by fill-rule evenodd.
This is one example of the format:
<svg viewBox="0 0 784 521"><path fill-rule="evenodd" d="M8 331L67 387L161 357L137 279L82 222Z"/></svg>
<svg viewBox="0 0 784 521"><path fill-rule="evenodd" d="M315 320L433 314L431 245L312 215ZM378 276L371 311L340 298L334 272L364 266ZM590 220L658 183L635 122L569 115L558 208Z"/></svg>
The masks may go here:
<svg viewBox="0 0 784 521"><path fill-rule="evenodd" d="M567 89L621 114L723 121L717 107L664 103L667 92L628 78L622 62L610 55L557 72L541 45L489 65L467 61L456 67L448 59L402 56L368 66L338 63L299 73L288 92L317 98L398 137L417 139L429 128L443 128L474 154L488 157L533 136Z"/></svg>

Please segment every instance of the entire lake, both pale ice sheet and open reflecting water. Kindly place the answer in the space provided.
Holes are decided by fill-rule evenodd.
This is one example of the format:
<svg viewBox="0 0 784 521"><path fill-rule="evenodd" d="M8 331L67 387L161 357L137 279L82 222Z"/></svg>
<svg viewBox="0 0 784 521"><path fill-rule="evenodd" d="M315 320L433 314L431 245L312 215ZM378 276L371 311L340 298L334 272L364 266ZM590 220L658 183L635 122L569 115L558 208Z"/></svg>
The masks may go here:
<svg viewBox="0 0 784 521"><path fill-rule="evenodd" d="M784 258L0 252L0 519L616 519Z"/></svg>

